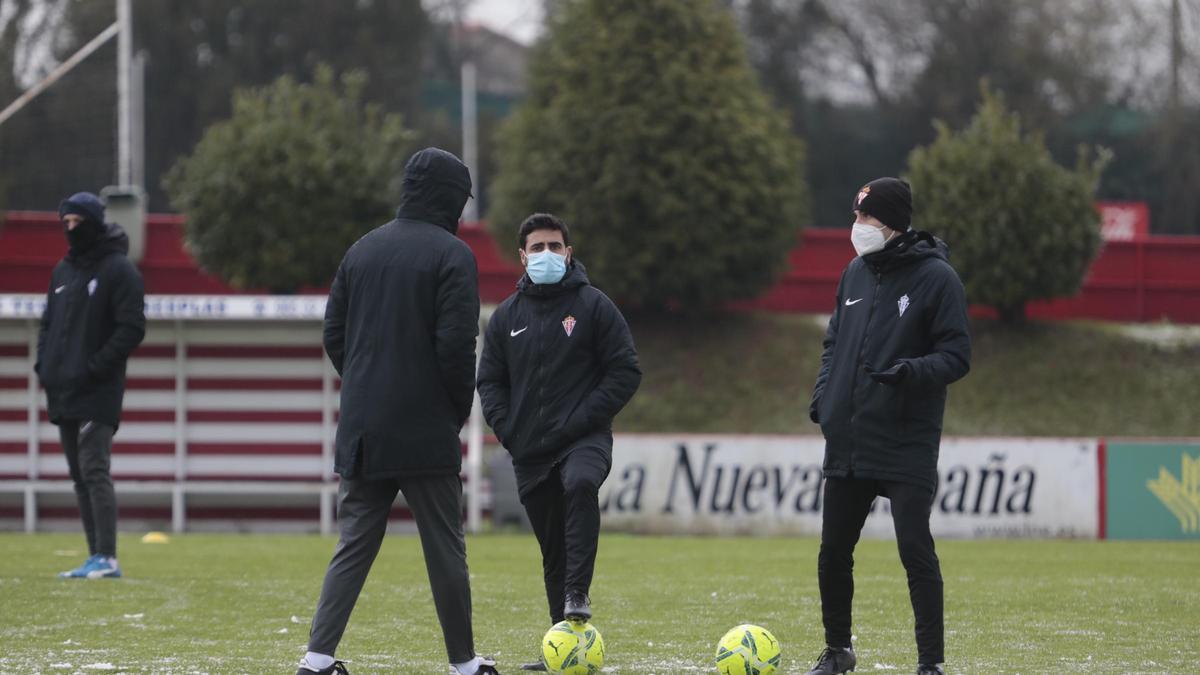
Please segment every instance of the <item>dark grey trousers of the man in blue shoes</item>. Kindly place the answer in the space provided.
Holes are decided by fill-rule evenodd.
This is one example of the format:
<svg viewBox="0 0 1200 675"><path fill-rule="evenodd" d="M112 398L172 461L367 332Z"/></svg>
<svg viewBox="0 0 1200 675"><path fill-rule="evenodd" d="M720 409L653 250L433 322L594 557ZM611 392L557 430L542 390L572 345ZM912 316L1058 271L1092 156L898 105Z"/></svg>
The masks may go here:
<svg viewBox="0 0 1200 675"><path fill-rule="evenodd" d="M89 555L116 557L116 492L110 471L114 431L107 424L77 419L59 425Z"/></svg>

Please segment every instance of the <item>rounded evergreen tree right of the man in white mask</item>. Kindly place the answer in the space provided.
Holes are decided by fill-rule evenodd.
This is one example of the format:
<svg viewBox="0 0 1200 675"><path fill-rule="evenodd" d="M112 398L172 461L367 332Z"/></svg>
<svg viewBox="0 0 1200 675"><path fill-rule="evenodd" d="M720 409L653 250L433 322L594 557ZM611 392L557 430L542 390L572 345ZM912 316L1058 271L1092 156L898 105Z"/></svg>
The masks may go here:
<svg viewBox="0 0 1200 675"><path fill-rule="evenodd" d="M1081 147L1074 169L1058 166L986 86L966 129L936 127L908 156L914 222L947 240L967 298L1012 323L1030 300L1075 294L1099 252L1093 198L1111 154Z"/></svg>

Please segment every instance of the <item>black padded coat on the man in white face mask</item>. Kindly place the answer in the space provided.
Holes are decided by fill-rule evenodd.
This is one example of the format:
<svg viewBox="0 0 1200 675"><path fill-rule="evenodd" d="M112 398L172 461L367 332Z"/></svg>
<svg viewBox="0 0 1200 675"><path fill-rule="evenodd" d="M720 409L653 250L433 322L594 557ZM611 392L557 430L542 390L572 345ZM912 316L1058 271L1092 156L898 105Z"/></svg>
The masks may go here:
<svg viewBox="0 0 1200 675"><path fill-rule="evenodd" d="M827 477L936 485L946 387L971 369L966 295L948 256L908 232L842 273L809 408ZM868 375L901 362L898 384Z"/></svg>

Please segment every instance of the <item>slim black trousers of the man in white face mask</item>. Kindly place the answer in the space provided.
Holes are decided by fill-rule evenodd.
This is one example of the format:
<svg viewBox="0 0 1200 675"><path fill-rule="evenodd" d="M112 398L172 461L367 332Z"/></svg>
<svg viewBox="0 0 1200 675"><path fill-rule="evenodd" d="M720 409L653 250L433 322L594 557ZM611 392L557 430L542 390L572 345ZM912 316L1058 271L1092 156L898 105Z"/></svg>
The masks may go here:
<svg viewBox="0 0 1200 675"><path fill-rule="evenodd" d="M908 598L916 619L918 663L944 661L942 571L929 532L934 490L892 480L827 478L821 513L821 617L826 644L848 647L854 597L854 545L876 496L892 501L892 521L900 562L908 574Z"/></svg>

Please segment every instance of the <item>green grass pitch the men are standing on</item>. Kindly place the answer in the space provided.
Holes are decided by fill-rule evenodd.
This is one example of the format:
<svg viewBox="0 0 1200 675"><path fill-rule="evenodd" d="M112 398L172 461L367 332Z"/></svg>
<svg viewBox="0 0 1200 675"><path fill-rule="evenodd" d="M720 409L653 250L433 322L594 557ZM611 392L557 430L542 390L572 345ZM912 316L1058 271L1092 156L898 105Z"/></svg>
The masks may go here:
<svg viewBox="0 0 1200 675"><path fill-rule="evenodd" d="M79 534L0 534L2 673L294 673L334 539L186 534L120 538L121 580L59 580ZM742 622L782 643L781 673L822 646L815 539L601 538L593 623L606 673L715 673ZM948 673L1195 673L1200 544L940 542ZM532 536L470 537L476 649L502 673L548 628ZM912 673L912 613L895 546L856 566L858 673ZM354 675L445 673L415 537L391 536L338 657Z"/></svg>

